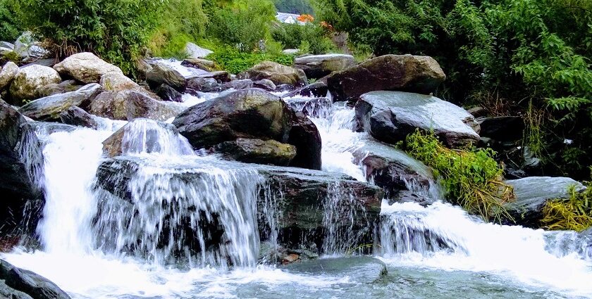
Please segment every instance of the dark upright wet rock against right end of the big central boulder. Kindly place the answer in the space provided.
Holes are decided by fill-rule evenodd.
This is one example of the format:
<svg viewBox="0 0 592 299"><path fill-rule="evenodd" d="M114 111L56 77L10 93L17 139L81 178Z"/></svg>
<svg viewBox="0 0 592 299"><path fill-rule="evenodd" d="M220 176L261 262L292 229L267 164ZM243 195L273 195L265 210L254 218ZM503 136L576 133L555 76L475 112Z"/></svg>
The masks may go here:
<svg viewBox="0 0 592 299"><path fill-rule="evenodd" d="M290 166L321 170L321 134L306 115L299 112L292 114L288 144L296 146L296 156Z"/></svg>

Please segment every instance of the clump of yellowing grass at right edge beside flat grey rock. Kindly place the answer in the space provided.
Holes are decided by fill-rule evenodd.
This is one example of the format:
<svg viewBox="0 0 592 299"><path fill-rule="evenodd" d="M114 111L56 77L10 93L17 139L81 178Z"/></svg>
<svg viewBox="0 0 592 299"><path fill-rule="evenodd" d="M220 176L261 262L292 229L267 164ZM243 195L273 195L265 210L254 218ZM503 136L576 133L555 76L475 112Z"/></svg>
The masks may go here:
<svg viewBox="0 0 592 299"><path fill-rule="evenodd" d="M555 199L545 204L541 224L545 229L583 231L592 227L592 183L577 192L569 187L569 198Z"/></svg>

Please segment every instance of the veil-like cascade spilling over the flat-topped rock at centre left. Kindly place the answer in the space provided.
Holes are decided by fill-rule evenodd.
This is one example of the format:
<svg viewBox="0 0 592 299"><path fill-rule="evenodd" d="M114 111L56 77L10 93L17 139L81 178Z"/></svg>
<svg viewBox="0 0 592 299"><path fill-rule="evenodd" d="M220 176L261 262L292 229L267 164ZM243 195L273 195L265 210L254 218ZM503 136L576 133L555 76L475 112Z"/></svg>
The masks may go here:
<svg viewBox="0 0 592 299"><path fill-rule="evenodd" d="M159 264L257 264L257 172L216 167L204 158L185 157L176 165L171 159L116 162L123 166L101 165L99 177L109 182L99 184L127 190L113 197L97 189L102 198L94 220L99 248Z"/></svg>

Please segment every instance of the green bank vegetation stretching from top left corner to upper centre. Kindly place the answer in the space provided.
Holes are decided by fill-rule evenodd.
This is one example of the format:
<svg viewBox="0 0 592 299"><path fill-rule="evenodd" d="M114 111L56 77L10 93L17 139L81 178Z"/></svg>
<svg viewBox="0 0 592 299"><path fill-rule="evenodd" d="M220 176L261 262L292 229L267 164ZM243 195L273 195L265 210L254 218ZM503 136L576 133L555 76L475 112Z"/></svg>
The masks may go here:
<svg viewBox="0 0 592 299"><path fill-rule="evenodd" d="M187 42L215 48L211 58L230 71L262 60L291 64L292 58L281 54L287 48L302 53L333 50L328 30L314 18L306 26L276 20L276 6L312 9L307 1L292 2L0 0L0 40L14 41L31 30L60 58L91 51L129 75L134 75L135 60L147 53L183 58Z"/></svg>

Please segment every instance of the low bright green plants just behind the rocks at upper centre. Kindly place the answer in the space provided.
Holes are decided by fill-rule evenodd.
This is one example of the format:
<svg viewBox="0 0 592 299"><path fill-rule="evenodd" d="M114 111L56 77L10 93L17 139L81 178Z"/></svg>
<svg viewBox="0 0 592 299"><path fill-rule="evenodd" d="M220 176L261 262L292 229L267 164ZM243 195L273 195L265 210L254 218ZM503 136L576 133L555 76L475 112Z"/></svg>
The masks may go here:
<svg viewBox="0 0 592 299"><path fill-rule="evenodd" d="M220 68L238 74L239 72L252 68L253 65L262 61L273 61L283 65L292 65L294 56L277 53L245 53L238 51L232 46L218 46L211 48L214 53L207 56L207 59L214 61Z"/></svg>

